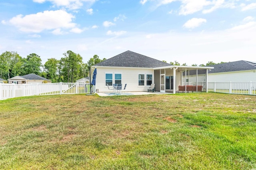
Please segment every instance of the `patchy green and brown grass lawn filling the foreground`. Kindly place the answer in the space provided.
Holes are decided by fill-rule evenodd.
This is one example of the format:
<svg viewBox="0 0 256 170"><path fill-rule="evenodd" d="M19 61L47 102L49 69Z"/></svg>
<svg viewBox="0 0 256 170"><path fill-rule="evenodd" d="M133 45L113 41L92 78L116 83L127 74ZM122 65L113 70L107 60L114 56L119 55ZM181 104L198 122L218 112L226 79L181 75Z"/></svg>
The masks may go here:
<svg viewBox="0 0 256 170"><path fill-rule="evenodd" d="M256 96L32 96L0 108L0 169L256 168Z"/></svg>

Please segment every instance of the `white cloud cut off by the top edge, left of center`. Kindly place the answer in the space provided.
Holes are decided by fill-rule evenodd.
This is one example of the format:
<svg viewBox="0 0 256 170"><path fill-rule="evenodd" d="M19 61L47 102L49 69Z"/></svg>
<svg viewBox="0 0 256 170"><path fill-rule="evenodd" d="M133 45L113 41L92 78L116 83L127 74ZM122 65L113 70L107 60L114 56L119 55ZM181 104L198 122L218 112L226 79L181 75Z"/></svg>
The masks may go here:
<svg viewBox="0 0 256 170"><path fill-rule="evenodd" d="M51 2L54 6L64 7L71 10L76 10L84 5L84 2L93 4L96 0L33 0L34 2L44 3L46 1Z"/></svg>

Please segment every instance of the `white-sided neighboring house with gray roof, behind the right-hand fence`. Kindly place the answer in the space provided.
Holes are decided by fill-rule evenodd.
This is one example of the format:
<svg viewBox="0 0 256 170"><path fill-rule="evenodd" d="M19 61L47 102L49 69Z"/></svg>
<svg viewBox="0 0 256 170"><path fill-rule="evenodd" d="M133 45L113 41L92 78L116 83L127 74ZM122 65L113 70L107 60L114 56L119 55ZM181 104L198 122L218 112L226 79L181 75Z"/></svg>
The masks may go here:
<svg viewBox="0 0 256 170"><path fill-rule="evenodd" d="M208 82L256 82L256 62L241 60L210 66L214 69L208 70ZM196 70L187 71L186 79L186 82L196 82ZM198 82L206 82L206 70L198 70Z"/></svg>

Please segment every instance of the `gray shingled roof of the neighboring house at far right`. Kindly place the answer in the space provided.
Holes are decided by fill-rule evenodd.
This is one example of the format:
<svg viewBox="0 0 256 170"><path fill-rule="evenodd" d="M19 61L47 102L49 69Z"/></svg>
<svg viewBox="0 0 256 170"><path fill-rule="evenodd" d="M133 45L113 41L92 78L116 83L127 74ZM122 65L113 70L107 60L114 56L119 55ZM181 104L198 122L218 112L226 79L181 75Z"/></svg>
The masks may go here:
<svg viewBox="0 0 256 170"><path fill-rule="evenodd" d="M214 64L210 66L214 67L214 69L208 70L208 74L218 73L218 72L256 70L256 62L250 62L250 61L244 61L244 60L222 63L222 64ZM190 75L196 74L196 70L191 70L189 74ZM206 74L206 70L198 70L198 74Z"/></svg>

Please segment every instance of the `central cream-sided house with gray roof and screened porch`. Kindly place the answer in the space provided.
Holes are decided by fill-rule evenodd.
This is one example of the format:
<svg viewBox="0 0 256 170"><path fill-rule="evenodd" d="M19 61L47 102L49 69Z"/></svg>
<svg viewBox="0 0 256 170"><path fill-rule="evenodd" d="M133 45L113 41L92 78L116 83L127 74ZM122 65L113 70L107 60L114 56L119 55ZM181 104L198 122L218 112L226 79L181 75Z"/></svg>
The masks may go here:
<svg viewBox="0 0 256 170"><path fill-rule="evenodd" d="M182 85L182 72L195 69L213 69L213 67L173 66L150 57L126 51L92 66L97 69L96 91L109 92L112 84L127 84L129 92L146 92L155 84L159 92L176 92ZM207 91L207 90L206 90Z"/></svg>

